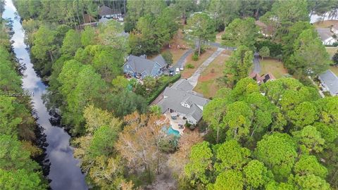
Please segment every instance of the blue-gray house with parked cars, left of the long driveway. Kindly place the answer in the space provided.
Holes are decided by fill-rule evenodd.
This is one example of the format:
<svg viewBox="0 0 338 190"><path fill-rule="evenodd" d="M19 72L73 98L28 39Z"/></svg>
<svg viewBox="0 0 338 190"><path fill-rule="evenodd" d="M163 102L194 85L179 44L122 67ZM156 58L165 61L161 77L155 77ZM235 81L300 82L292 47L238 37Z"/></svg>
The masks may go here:
<svg viewBox="0 0 338 190"><path fill-rule="evenodd" d="M158 55L154 60L149 60L146 55L127 57L125 65L123 65L123 72L132 77L144 78L146 76L158 77L163 74L163 70L167 68L164 58Z"/></svg>

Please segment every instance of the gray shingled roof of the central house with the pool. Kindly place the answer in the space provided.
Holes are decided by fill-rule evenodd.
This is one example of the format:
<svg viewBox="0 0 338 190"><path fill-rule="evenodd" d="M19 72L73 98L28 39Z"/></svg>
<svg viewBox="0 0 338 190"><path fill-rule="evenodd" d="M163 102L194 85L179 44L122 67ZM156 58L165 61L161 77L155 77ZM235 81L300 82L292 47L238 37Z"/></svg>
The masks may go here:
<svg viewBox="0 0 338 190"><path fill-rule="evenodd" d="M173 87L178 86L175 84ZM178 84L181 84L181 82L178 82ZM163 91L164 98L158 102L158 106L160 106L163 111L170 108L179 113L184 113L187 116L192 116L195 120L199 121L202 118L203 112L199 106L204 107L210 100L194 95L194 91L182 91L181 89L175 89L173 87L165 88ZM190 108L181 105L184 101L189 104Z"/></svg>

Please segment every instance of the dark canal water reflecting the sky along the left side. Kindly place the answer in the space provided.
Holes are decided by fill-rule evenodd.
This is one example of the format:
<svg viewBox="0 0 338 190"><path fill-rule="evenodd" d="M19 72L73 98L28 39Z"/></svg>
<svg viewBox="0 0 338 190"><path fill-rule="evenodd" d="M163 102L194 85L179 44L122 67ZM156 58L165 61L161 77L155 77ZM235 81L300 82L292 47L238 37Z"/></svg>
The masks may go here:
<svg viewBox="0 0 338 190"><path fill-rule="evenodd" d="M42 101L42 94L46 91L46 86L41 79L37 77L37 73L32 68L30 63L30 55L26 50L24 44L25 32L20 24L20 18L15 18L16 9L11 0L6 0L5 11L3 18L11 18L13 20L13 34L12 40L14 42L13 48L16 57L27 68L23 72L23 88L34 94L32 96L32 105L37 111L37 122L44 128L46 134L46 142L49 146L46 147L46 159L51 163L49 179L51 179L51 189L68 190L68 189L88 189L84 181L79 163L73 157L73 147L69 145L70 136L65 130L58 126L53 126L49 122L49 115L44 103Z"/></svg>

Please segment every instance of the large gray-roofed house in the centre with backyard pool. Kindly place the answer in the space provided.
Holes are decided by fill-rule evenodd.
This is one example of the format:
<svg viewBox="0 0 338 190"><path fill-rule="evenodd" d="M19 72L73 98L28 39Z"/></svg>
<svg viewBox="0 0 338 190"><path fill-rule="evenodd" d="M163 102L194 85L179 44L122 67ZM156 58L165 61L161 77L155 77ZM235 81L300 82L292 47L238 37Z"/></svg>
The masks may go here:
<svg viewBox="0 0 338 190"><path fill-rule="evenodd" d="M193 88L192 84L183 79L175 82L172 87L165 88L161 101L157 103L162 113L177 113L190 124L196 125L202 118L204 106L210 100L192 91Z"/></svg>

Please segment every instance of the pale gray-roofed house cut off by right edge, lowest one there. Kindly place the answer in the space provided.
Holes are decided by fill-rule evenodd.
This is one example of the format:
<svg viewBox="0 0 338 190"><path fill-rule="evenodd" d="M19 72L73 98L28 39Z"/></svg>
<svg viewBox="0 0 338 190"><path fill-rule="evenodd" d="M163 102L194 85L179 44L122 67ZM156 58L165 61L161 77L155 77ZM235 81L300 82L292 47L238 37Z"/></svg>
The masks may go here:
<svg viewBox="0 0 338 190"><path fill-rule="evenodd" d="M318 76L323 91L330 91L332 96L338 96L338 77L331 70L325 71Z"/></svg>

